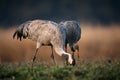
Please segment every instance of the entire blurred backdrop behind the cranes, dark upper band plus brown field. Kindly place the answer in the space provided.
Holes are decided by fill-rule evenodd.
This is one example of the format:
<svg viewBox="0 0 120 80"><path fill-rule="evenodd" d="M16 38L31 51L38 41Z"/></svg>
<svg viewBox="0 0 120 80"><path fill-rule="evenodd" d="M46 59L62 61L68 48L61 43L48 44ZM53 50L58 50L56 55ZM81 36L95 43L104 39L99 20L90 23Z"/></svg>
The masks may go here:
<svg viewBox="0 0 120 80"><path fill-rule="evenodd" d="M81 59L120 58L120 0L0 0L0 63L30 61L36 43L13 40L12 35L21 23L34 19L80 22ZM42 47L38 59L50 61L50 53L50 47Z"/></svg>

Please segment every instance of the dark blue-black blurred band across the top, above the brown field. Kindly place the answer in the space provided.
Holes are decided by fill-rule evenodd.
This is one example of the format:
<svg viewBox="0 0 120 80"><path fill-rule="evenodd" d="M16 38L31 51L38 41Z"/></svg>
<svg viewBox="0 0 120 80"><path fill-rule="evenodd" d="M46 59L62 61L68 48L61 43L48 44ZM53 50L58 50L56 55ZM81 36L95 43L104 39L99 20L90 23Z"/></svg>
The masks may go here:
<svg viewBox="0 0 120 80"><path fill-rule="evenodd" d="M0 25L31 19L119 24L120 0L0 0Z"/></svg>

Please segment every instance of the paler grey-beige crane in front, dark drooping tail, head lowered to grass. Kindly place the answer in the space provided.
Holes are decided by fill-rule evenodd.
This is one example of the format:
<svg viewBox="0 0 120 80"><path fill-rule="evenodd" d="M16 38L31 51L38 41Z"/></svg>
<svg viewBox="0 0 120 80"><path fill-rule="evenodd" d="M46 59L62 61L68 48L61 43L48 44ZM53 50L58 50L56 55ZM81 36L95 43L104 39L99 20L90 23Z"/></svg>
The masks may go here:
<svg viewBox="0 0 120 80"><path fill-rule="evenodd" d="M53 21L32 20L21 24L13 34L13 39L31 39L36 41L36 50L33 55L32 65L36 59L36 54L41 46L51 46L59 56L67 57L71 65L75 65L72 55L65 52L66 33L63 27Z"/></svg>

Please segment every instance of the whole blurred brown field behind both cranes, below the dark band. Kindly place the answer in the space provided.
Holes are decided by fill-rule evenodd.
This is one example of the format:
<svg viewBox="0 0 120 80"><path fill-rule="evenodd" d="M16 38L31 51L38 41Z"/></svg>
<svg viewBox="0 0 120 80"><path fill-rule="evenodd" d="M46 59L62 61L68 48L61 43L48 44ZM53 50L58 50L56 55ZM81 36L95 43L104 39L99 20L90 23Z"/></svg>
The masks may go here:
<svg viewBox="0 0 120 80"><path fill-rule="evenodd" d="M120 27L110 25L81 25L82 37L79 41L80 59L83 60L120 60ZM15 29L0 29L0 63L30 61L35 51L36 42L31 40L13 40ZM50 47L41 47L37 60L52 62ZM68 49L69 50L69 49ZM69 50L70 52L70 50ZM76 57L77 58L77 57ZM57 62L61 57L55 55Z"/></svg>

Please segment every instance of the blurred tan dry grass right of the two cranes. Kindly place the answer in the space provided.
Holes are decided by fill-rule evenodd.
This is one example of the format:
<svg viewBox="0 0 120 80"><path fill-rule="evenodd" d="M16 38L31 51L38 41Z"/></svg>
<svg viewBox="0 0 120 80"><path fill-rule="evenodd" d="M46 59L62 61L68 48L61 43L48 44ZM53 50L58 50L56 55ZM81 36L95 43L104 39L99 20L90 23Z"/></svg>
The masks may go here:
<svg viewBox="0 0 120 80"><path fill-rule="evenodd" d="M84 27L82 30L82 38L79 42L82 58L100 60L120 58L120 28L118 26Z"/></svg>

